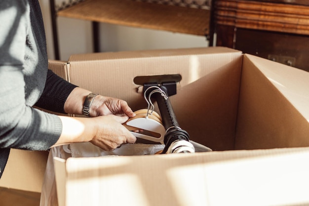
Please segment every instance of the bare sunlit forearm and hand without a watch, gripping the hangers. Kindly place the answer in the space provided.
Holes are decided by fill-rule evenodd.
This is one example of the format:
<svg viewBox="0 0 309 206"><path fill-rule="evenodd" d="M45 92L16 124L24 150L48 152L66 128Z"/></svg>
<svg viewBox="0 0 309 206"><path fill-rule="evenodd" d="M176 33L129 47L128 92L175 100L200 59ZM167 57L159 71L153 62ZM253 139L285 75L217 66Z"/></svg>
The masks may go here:
<svg viewBox="0 0 309 206"><path fill-rule="evenodd" d="M74 118L59 116L62 121L62 133L54 146L74 142L91 142L106 151L121 144L134 143L136 137L122 124L127 116L106 115L94 118Z"/></svg>

